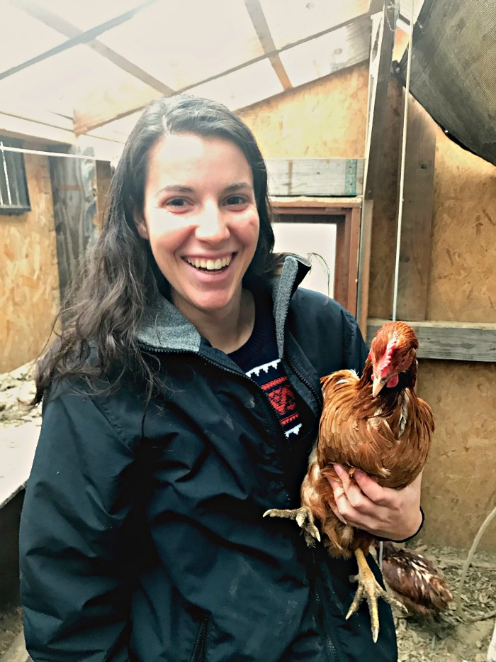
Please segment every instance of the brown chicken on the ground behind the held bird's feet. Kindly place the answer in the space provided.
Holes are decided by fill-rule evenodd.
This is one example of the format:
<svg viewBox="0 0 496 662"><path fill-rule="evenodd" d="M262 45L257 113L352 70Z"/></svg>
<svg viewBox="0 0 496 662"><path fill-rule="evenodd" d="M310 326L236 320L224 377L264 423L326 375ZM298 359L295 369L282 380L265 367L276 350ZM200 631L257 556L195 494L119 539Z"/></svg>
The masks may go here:
<svg viewBox="0 0 496 662"><path fill-rule="evenodd" d="M383 543L383 578L409 614L436 616L453 600L446 580L423 554Z"/></svg>

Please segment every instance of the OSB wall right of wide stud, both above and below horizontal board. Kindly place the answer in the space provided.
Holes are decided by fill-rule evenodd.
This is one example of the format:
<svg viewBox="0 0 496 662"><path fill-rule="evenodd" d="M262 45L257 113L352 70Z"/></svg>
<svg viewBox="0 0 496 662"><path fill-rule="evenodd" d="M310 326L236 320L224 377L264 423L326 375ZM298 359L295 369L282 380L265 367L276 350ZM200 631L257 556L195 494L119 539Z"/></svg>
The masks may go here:
<svg viewBox="0 0 496 662"><path fill-rule="evenodd" d="M439 129L427 316L496 322L496 168ZM468 547L496 505L496 364L422 361L436 434L425 473L424 540ZM480 548L496 550L496 521Z"/></svg>

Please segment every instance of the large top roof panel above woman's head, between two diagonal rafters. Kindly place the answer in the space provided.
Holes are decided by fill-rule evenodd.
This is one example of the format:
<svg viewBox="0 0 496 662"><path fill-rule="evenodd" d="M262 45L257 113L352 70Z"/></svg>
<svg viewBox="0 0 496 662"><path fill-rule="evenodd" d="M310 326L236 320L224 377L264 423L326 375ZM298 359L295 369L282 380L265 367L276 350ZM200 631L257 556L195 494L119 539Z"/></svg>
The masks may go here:
<svg viewBox="0 0 496 662"><path fill-rule="evenodd" d="M243 0L161 2L99 40L174 90L264 55Z"/></svg>

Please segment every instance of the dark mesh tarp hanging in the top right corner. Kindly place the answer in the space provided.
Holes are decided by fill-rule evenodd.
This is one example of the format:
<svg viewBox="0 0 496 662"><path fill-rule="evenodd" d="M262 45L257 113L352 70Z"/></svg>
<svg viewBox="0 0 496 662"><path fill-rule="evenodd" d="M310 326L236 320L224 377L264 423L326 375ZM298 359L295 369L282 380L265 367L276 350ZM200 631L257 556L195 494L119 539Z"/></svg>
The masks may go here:
<svg viewBox="0 0 496 662"><path fill-rule="evenodd" d="M425 0L410 92L463 147L496 165L496 0ZM406 52L396 73L407 75Z"/></svg>

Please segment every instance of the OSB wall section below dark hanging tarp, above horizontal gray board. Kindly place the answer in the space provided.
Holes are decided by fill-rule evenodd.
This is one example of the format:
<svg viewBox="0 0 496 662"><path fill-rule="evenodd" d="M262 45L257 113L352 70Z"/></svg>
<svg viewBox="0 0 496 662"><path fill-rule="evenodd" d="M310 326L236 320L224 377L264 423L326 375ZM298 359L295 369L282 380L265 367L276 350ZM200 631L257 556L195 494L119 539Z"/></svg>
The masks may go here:
<svg viewBox="0 0 496 662"><path fill-rule="evenodd" d="M496 167L436 135L429 319L496 322Z"/></svg>

